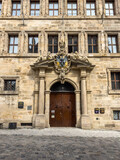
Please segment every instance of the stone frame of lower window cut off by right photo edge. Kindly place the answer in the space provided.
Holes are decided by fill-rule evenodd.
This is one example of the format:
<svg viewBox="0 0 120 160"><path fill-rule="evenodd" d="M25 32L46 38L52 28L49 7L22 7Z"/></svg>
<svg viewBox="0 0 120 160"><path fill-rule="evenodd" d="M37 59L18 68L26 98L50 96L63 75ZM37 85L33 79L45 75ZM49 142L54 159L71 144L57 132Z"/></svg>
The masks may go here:
<svg viewBox="0 0 120 160"><path fill-rule="evenodd" d="M120 90L113 90L112 89L111 72L120 72L120 68L107 68L108 94L120 95Z"/></svg>

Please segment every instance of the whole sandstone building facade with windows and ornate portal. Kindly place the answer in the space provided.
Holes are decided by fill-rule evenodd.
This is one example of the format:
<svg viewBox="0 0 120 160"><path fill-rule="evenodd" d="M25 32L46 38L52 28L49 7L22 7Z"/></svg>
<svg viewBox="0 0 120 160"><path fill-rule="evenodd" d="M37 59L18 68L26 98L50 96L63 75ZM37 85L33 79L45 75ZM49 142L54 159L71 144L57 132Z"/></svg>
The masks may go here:
<svg viewBox="0 0 120 160"><path fill-rule="evenodd" d="M119 58L120 0L0 1L0 127L120 129Z"/></svg>

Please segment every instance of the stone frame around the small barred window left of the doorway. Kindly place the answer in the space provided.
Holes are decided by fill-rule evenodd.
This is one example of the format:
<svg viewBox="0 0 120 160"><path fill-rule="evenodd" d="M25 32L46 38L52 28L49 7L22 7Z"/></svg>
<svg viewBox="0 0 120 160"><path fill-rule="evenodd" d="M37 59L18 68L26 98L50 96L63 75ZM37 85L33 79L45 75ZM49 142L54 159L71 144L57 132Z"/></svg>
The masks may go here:
<svg viewBox="0 0 120 160"><path fill-rule="evenodd" d="M15 91L5 91L4 90L4 80L16 80L16 90ZM0 77L0 95L18 95L19 94L19 76L1 76Z"/></svg>

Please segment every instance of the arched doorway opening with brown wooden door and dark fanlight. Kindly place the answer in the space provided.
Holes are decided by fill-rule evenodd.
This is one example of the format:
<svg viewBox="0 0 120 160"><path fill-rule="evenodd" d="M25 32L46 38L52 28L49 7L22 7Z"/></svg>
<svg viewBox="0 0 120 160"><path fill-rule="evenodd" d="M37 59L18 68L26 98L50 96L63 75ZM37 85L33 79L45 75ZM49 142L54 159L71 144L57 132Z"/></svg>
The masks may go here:
<svg viewBox="0 0 120 160"><path fill-rule="evenodd" d="M74 87L65 82L57 82L50 88L50 126L75 127L76 106Z"/></svg>

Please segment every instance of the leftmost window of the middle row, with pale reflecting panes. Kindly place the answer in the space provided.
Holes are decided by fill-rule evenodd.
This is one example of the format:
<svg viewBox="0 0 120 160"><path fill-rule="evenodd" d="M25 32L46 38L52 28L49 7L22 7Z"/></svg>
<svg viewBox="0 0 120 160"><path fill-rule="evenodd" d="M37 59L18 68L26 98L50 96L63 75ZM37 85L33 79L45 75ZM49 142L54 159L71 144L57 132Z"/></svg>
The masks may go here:
<svg viewBox="0 0 120 160"><path fill-rule="evenodd" d="M9 36L9 53L18 53L18 36Z"/></svg>

